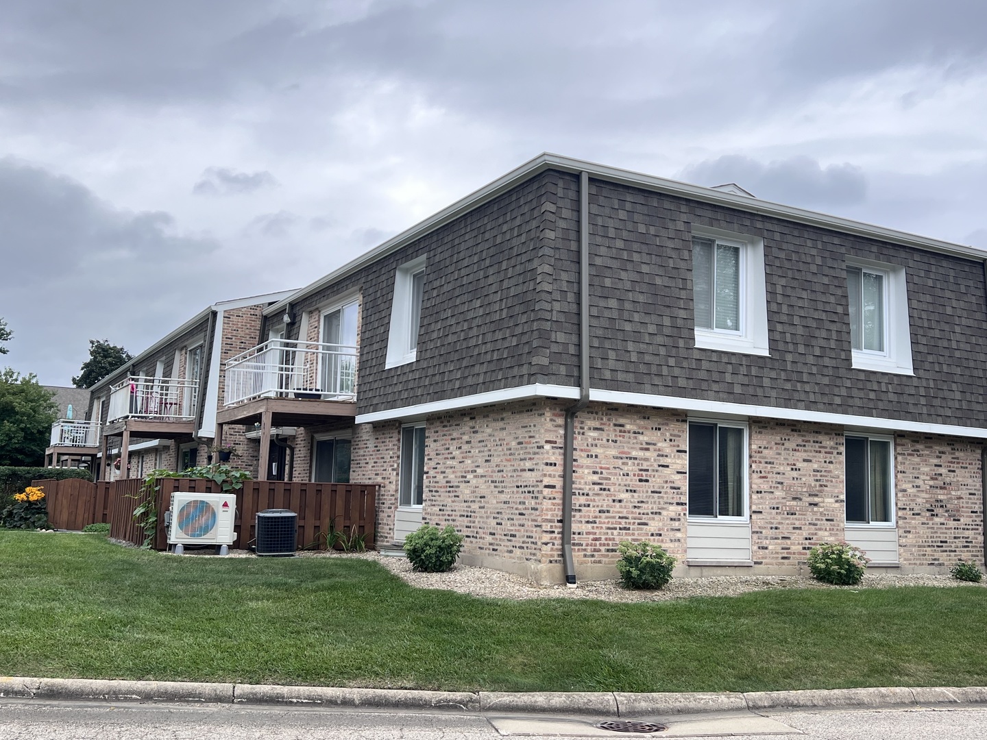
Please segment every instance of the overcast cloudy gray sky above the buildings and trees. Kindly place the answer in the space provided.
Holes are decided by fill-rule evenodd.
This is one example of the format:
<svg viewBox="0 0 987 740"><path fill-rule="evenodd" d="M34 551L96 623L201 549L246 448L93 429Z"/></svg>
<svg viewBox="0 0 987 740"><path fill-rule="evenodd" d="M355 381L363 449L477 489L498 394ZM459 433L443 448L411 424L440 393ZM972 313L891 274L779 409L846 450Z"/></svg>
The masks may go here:
<svg viewBox="0 0 987 740"><path fill-rule="evenodd" d="M982 0L7 0L0 364L68 385L542 151L987 249Z"/></svg>

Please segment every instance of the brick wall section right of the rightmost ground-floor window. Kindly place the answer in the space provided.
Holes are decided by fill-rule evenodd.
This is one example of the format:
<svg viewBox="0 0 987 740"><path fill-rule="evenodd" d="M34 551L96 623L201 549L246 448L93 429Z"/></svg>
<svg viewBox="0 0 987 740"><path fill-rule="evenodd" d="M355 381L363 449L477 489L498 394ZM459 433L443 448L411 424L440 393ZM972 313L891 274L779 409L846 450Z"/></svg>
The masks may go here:
<svg viewBox="0 0 987 740"><path fill-rule="evenodd" d="M961 437L897 434L894 476L902 565L984 565L982 443Z"/></svg>

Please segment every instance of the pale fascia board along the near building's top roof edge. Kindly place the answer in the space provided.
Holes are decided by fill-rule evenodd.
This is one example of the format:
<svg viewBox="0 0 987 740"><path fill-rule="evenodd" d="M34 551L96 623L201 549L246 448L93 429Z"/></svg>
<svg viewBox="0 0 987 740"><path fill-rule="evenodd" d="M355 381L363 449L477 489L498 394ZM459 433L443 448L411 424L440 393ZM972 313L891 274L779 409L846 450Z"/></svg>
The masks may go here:
<svg viewBox="0 0 987 740"><path fill-rule="evenodd" d="M789 221L796 221L797 223L810 224L832 231L843 232L845 234L854 234L871 239L878 239L884 242L907 245L909 247L915 247L931 252L942 252L966 259L987 259L987 250L981 250L976 247L968 247L965 245L946 242L941 239L933 239L931 237L909 234L908 232L898 231L897 229L875 226L863 221L854 221L853 219L832 216L827 213L818 213L816 211L810 211L804 208L797 208L792 205L772 203L768 200L762 200L760 198L750 197L747 195L735 195L730 192L718 190L715 187L680 183L675 180L658 178L653 175L645 175L644 173L633 172L631 170L622 170L616 167L608 167L606 165L599 165L594 162L586 162L583 160L546 152L538 155L528 162L525 162L520 167L511 170L506 175L497 178L493 181L493 183L484 185L480 189L471 192L466 197L457 200L452 205L443 208L410 229L407 229L397 236L392 237L366 254L346 262L342 265L342 267L330 272L325 277L321 277L304 288L300 288L292 293L286 300L279 301L266 309L265 314L272 315L283 310L288 303L294 303L305 298L306 296L311 295L312 293L322 290L326 286L342 279L346 275L355 272L360 267L363 267L376 259L385 257L386 255L401 249L406 244L413 242L419 237L427 234L429 231L437 229L439 226L458 218L464 213L467 213L487 202L491 198L496 197L501 192L504 192L515 185L519 185L520 183L523 183L524 181L529 180L530 178L533 178L546 170L562 170L570 173L585 172L589 175L589 177L597 180L606 180L611 183L621 183L623 185L631 185L633 187L643 187L648 190L664 192L669 195L687 197L707 203L715 203L717 205L735 208L748 213L759 213L766 216L775 216Z"/></svg>

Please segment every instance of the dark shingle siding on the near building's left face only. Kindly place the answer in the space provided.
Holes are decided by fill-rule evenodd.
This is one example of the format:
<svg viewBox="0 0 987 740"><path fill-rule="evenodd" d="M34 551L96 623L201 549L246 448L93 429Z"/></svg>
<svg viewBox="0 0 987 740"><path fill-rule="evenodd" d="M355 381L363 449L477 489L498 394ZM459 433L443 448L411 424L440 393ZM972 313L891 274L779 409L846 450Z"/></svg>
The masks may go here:
<svg viewBox="0 0 987 740"><path fill-rule="evenodd" d="M543 377L544 364L533 358L548 353L549 305L536 299L536 287L541 275L544 293L546 274L539 272L538 259L552 249L546 232L555 189L553 174L533 178L292 304L300 316L360 288L359 413L512 388ZM395 271L421 255L427 262L418 359L385 369Z"/></svg>

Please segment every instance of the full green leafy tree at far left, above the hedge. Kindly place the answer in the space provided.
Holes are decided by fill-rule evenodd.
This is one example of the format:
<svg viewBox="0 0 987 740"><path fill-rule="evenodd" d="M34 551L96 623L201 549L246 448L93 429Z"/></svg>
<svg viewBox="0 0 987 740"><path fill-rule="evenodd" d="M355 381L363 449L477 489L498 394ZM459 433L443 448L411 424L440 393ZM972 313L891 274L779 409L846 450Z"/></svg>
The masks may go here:
<svg viewBox="0 0 987 740"><path fill-rule="evenodd" d="M43 465L58 417L54 394L32 373L7 368L0 374L0 465Z"/></svg>

